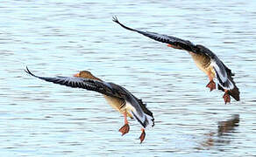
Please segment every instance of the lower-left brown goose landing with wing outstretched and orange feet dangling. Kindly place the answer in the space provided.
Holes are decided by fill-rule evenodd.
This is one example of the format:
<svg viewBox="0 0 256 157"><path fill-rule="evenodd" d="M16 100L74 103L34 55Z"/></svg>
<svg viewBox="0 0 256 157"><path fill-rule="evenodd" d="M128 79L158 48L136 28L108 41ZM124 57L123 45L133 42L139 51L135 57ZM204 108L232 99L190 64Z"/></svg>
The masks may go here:
<svg viewBox="0 0 256 157"><path fill-rule="evenodd" d="M120 85L110 82L104 82L100 78L96 78L91 72L82 71L74 75L74 77L39 77L34 75L26 67L25 72L35 78L40 78L54 84L66 85L73 88L82 88L89 91L100 92L103 94L107 102L115 108L119 113L124 115L124 126L119 129L119 132L124 135L130 130L127 116L135 118L139 121L141 127L140 143L145 139L147 127L154 126L153 113L147 108L146 104L141 99L136 98L131 92Z"/></svg>

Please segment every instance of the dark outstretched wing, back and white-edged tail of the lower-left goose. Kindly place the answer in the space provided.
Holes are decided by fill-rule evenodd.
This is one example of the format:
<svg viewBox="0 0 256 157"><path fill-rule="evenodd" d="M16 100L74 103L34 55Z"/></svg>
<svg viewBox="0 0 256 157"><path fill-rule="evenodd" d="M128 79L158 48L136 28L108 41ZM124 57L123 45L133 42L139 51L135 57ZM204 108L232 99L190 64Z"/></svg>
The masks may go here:
<svg viewBox="0 0 256 157"><path fill-rule="evenodd" d="M82 88L89 91L100 92L110 97L125 99L126 105L127 103L129 103L134 108L134 110L132 110L132 114L136 119L138 119L139 123L142 126L144 127L153 126L153 114L146 109L146 106L143 106L143 103L141 100L134 97L131 92L128 92L124 87L120 85L98 81L94 79L88 79L88 78L60 77L60 76L39 77L34 75L32 72L30 72L27 67L25 72L27 72L28 74L32 75L35 78L40 78L48 82L53 82L54 84L66 85L73 88ZM147 113L145 112L146 110L147 110Z"/></svg>

